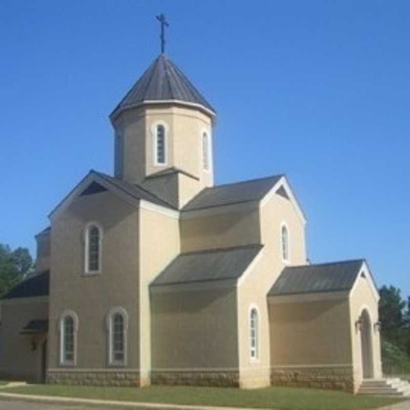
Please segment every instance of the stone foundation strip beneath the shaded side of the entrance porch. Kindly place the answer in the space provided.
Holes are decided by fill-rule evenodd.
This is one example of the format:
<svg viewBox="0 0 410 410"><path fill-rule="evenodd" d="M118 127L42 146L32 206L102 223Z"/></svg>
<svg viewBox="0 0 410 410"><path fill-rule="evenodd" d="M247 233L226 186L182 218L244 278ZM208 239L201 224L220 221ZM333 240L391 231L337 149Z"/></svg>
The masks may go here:
<svg viewBox="0 0 410 410"><path fill-rule="evenodd" d="M354 393L353 366L271 368L274 386L316 387Z"/></svg>

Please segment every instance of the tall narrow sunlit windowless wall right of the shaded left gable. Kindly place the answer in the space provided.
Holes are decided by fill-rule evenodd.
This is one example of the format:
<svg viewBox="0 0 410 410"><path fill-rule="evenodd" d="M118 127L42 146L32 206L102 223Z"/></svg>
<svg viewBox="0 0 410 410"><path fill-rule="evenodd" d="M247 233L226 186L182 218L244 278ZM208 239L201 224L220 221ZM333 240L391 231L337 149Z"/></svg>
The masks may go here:
<svg viewBox="0 0 410 410"><path fill-rule="evenodd" d="M148 384L152 343L149 285L179 253L179 222L175 217L141 209L139 228L140 367L141 379Z"/></svg>

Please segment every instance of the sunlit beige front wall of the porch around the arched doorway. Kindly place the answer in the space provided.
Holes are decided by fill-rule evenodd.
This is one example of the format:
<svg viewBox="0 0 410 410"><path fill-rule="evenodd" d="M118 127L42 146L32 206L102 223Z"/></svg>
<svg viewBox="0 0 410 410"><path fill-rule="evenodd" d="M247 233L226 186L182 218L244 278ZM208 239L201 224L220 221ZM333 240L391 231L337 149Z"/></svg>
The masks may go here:
<svg viewBox="0 0 410 410"><path fill-rule="evenodd" d="M359 319L363 310L367 310L371 317L371 338L373 352L373 369L374 377L382 377L381 353L380 353L380 332L375 329L374 324L379 321L378 299L371 290L369 274L365 265L363 272L366 272L367 277L360 276L354 286L350 297L350 317L351 317L351 335L353 349L353 363L355 374L355 388L357 389L363 379L362 371L362 351L361 351L361 335L355 323Z"/></svg>

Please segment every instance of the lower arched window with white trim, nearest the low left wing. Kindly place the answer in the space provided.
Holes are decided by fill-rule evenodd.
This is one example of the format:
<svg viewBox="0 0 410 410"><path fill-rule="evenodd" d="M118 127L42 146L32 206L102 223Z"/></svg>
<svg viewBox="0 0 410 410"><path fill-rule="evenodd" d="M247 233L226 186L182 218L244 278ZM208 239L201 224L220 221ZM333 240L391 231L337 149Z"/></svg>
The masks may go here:
<svg viewBox="0 0 410 410"><path fill-rule="evenodd" d="M60 318L60 363L75 365L78 318L72 311L66 311Z"/></svg>

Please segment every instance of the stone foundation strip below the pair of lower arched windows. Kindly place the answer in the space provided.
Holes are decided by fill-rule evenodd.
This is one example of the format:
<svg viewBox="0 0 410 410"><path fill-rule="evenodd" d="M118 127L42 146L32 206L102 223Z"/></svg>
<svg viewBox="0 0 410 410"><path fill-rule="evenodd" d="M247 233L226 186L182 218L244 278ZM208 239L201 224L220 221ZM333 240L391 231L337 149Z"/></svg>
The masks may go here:
<svg viewBox="0 0 410 410"><path fill-rule="evenodd" d="M139 372L127 371L48 371L48 384L77 386L141 386Z"/></svg>

